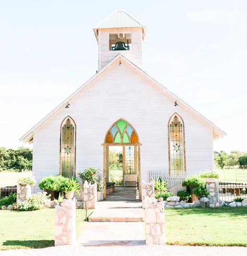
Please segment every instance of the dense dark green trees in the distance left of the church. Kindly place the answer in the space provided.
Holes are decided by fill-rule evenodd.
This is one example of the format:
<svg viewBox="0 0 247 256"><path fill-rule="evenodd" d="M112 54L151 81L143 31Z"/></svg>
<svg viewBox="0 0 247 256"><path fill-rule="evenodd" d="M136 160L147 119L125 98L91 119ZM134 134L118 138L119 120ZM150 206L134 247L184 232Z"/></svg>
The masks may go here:
<svg viewBox="0 0 247 256"><path fill-rule="evenodd" d="M26 147L6 149L0 147L0 171L26 171L32 169L32 150Z"/></svg>

